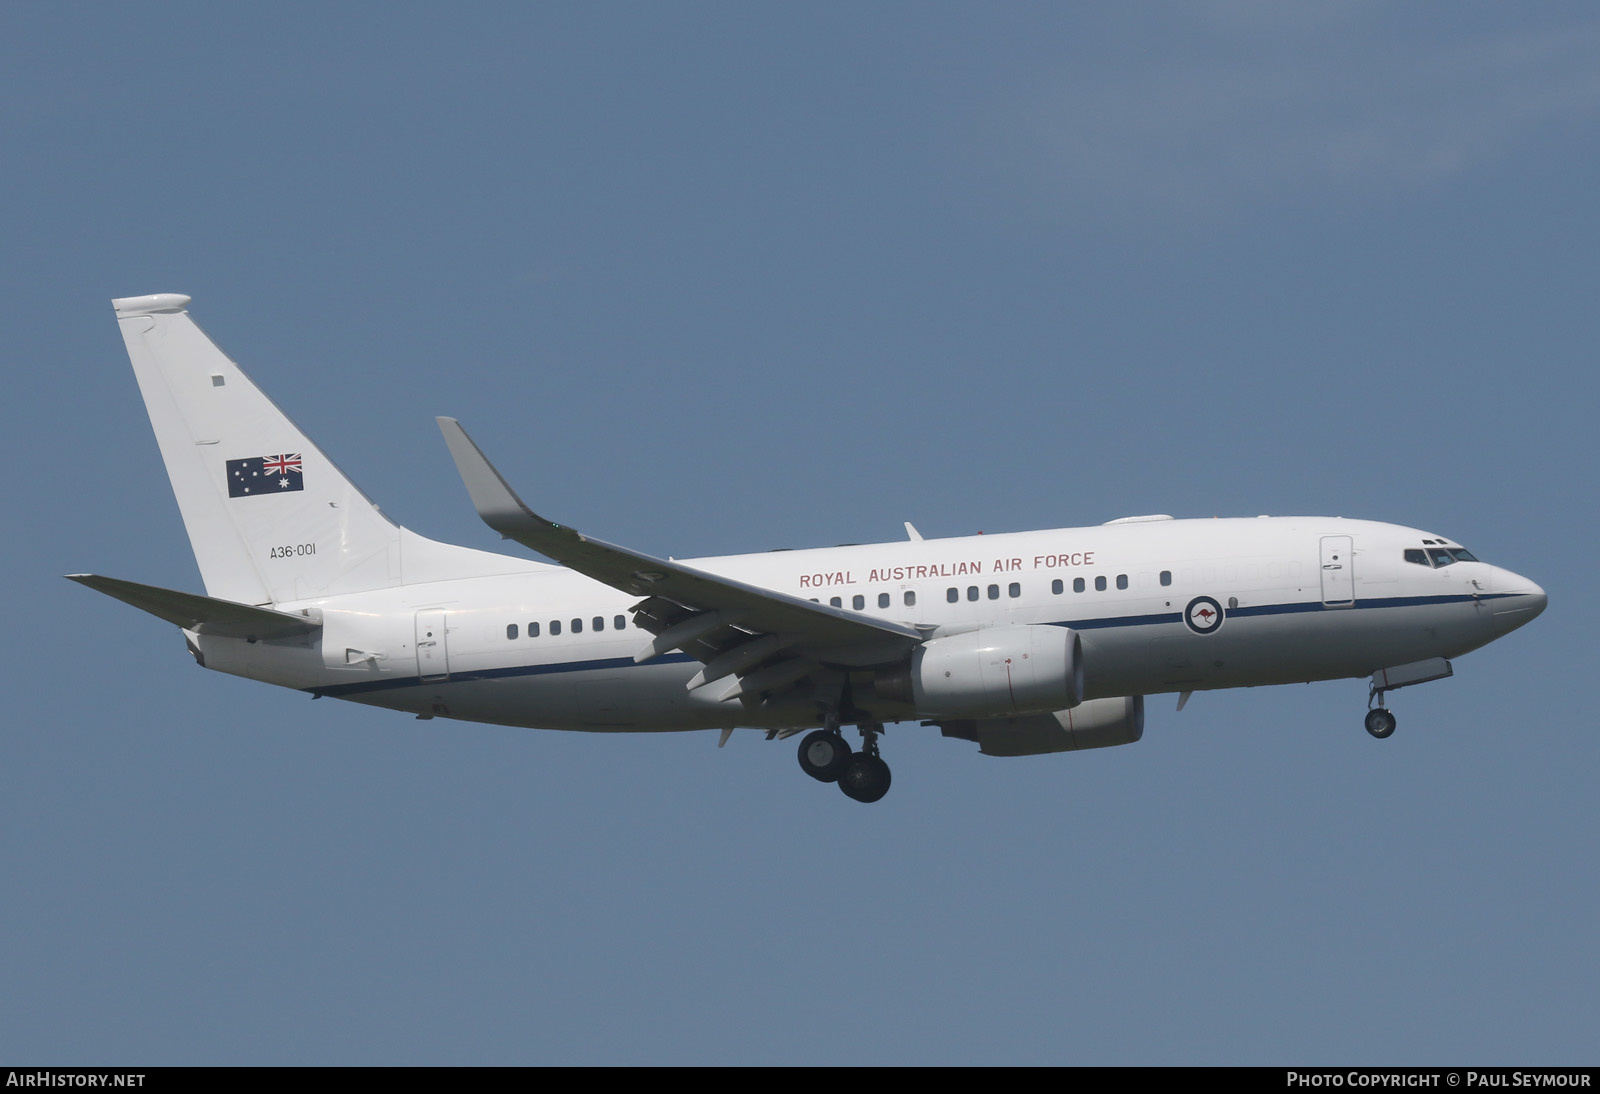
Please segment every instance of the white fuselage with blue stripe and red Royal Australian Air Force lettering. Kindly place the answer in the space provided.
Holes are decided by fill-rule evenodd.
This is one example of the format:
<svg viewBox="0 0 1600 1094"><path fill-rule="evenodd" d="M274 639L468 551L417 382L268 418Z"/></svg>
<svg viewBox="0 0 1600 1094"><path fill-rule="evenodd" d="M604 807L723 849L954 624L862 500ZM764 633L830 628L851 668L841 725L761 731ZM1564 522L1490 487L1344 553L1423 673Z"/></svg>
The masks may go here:
<svg viewBox="0 0 1600 1094"><path fill-rule="evenodd" d="M1408 563L1430 533L1346 518L1149 520L685 560L712 574L923 629L1006 624L1082 637L1085 699L1365 677L1456 657L1542 608L1482 561ZM1453 545L1453 544L1451 544ZM272 560L293 566L294 557ZM419 715L589 731L794 728L800 705L688 691L699 664L634 656L638 597L565 568L278 605L318 637L192 633L206 667ZM619 625L621 624L621 625ZM421 645L419 645L421 643ZM846 670L850 667L845 667ZM858 689L885 721L925 717Z"/></svg>

